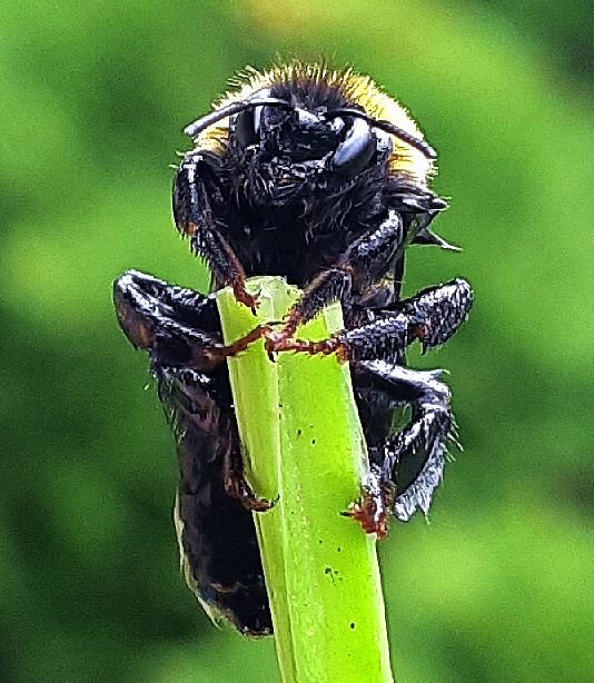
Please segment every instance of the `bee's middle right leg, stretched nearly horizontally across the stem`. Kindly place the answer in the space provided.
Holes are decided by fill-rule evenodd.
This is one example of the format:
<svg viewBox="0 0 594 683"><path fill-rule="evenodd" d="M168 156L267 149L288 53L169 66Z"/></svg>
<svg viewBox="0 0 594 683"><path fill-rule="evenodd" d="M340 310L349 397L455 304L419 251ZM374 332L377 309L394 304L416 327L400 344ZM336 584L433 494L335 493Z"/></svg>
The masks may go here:
<svg viewBox="0 0 594 683"><path fill-rule="evenodd" d="M472 290L462 279L426 289L399 301L395 310L377 311L377 319L321 342L300 342L271 335L269 350L295 350L328 355L341 360L389 360L402 363L408 344L419 339L424 349L444 344L466 319Z"/></svg>

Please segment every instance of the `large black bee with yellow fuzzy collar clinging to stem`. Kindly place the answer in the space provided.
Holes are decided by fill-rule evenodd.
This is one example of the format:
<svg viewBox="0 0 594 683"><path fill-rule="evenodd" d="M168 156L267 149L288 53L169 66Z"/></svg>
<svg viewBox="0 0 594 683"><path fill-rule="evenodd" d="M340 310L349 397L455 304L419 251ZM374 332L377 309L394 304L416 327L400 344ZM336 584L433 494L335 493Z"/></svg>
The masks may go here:
<svg viewBox="0 0 594 683"><path fill-rule="evenodd" d="M352 69L294 62L248 70L214 111L186 128L174 217L208 263L212 289L257 300L246 277L279 275L304 289L276 331L225 346L214 295L137 271L115 284L120 325L147 352L178 442L176 524L187 582L211 615L250 635L271 632L251 509L266 502L242 478L225 358L264 336L270 354L336 352L352 368L370 472L352 515L386 532L427 512L452 430L439 373L405 367L415 339L446 342L472 304L456 279L400 298L408 245L453 248L429 225L446 202L430 190L435 151L407 111ZM340 299L345 330L307 344L298 326ZM409 424L394 433L396 407Z"/></svg>

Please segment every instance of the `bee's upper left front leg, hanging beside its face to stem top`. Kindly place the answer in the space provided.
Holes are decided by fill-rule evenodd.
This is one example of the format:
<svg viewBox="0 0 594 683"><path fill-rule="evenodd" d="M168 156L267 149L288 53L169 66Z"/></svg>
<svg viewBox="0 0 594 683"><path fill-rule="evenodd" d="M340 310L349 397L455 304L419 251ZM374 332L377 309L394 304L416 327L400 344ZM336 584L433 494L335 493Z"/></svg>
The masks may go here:
<svg viewBox="0 0 594 683"><path fill-rule="evenodd" d="M230 285L237 300L254 308L257 300L246 291L244 268L212 215L212 202L220 199L214 168L218 164L212 152L186 155L174 181L174 218L179 231L190 237L192 250L208 263L217 285Z"/></svg>

